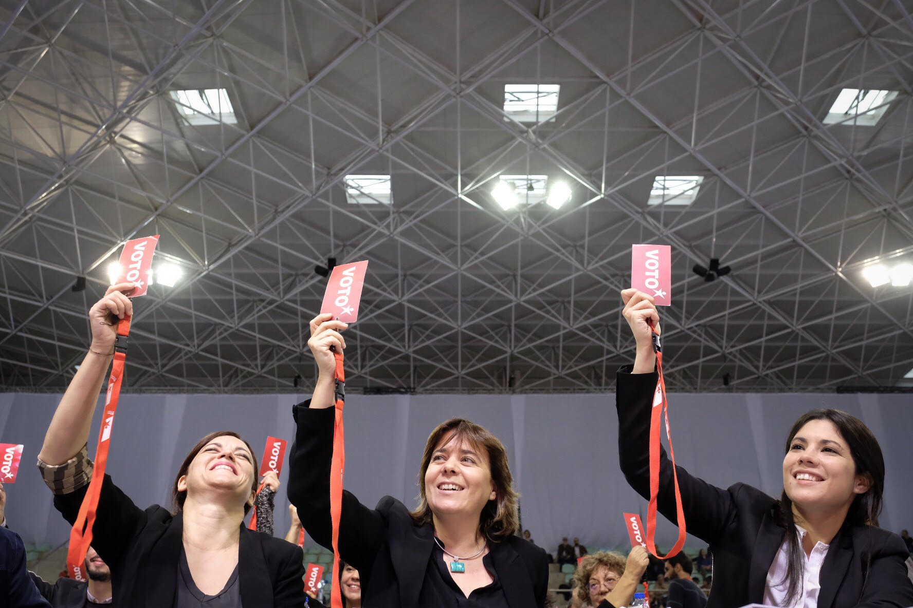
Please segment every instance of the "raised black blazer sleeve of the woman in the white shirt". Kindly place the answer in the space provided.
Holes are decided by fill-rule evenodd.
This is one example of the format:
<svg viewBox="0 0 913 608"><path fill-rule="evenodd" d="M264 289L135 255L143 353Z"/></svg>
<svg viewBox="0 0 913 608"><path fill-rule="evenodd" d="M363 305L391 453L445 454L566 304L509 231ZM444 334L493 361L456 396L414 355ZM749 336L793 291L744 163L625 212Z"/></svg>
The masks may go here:
<svg viewBox="0 0 913 608"><path fill-rule="evenodd" d="M624 478L645 499L650 498L650 415L659 375L617 374L618 457ZM666 450L660 448L659 495L656 508L676 523L675 482ZM687 531L709 544L716 544L735 514L735 501L725 489L708 484L676 467Z"/></svg>

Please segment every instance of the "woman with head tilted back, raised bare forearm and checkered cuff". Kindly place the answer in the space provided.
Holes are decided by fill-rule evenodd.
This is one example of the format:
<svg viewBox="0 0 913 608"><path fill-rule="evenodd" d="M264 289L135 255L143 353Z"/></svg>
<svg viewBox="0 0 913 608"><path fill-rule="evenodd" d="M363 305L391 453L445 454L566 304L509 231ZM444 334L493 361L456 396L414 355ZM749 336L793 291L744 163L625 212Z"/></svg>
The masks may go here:
<svg viewBox="0 0 913 608"><path fill-rule="evenodd" d="M132 283L111 286L89 311L92 344L47 428L38 467L54 506L73 523L89 487L86 444L114 353L117 321L132 314ZM142 462L137 461L142 475ZM138 508L110 475L101 485L92 547L110 566L114 604L131 608L300 608L299 547L244 525L257 458L232 431L202 438L174 479L173 510Z"/></svg>

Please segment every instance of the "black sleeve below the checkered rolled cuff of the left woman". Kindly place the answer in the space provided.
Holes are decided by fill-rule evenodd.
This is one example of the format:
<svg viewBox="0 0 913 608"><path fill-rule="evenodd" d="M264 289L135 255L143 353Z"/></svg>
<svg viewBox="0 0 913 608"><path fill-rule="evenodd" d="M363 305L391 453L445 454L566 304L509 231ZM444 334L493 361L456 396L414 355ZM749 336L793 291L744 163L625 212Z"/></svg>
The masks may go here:
<svg viewBox="0 0 913 608"><path fill-rule="evenodd" d="M79 506L88 490L87 485L69 494L54 495L54 507L71 525L79 515ZM96 513L96 525L92 528L92 548L99 552L101 559L112 570L117 569L148 516L146 511L133 504L130 497L114 485L107 473L101 482Z"/></svg>

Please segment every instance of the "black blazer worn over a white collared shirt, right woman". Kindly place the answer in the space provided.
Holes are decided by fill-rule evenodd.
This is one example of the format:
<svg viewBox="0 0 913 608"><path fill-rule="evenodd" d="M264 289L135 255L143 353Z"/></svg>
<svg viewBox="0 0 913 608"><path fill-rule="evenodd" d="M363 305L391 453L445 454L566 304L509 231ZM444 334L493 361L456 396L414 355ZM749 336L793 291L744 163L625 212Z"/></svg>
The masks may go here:
<svg viewBox="0 0 913 608"><path fill-rule="evenodd" d="M658 375L617 374L618 453L624 477L650 496L650 410ZM661 451L657 510L676 521L672 468ZM676 467L687 531L713 551L713 587L708 608L761 603L767 572L786 537L777 523L777 500L744 483L719 489ZM821 567L818 608L913 605L913 583L897 534L874 526L845 525L831 541ZM871 567L866 568L869 557Z"/></svg>

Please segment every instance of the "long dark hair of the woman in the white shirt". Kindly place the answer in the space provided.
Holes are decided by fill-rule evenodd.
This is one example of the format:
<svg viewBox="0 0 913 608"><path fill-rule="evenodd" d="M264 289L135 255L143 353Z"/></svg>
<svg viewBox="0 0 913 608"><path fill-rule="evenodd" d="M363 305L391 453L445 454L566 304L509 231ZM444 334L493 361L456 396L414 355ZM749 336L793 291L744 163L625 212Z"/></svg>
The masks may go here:
<svg viewBox="0 0 913 608"><path fill-rule="evenodd" d="M877 526L878 515L881 514L882 494L885 491L885 457L881 453L881 446L872 431L866 424L855 416L851 416L839 409L813 409L806 412L796 420L786 438L786 452L790 451L792 439L800 428L812 420L829 420L840 431L845 439L850 455L855 464L855 475L865 475L869 478L869 489L865 494L856 494L850 510L846 512L844 526ZM779 522L786 526L786 539L789 541L789 567L786 577L790 586L786 593L784 605L790 605L800 593L803 582L803 547L799 540L799 531L795 527L795 518L792 515L792 500L786 496L783 489L777 511ZM868 565L866 566L866 580L871 568L871 551L869 551ZM863 581L863 588L866 581Z"/></svg>

